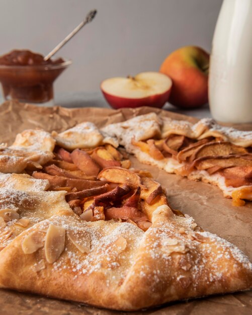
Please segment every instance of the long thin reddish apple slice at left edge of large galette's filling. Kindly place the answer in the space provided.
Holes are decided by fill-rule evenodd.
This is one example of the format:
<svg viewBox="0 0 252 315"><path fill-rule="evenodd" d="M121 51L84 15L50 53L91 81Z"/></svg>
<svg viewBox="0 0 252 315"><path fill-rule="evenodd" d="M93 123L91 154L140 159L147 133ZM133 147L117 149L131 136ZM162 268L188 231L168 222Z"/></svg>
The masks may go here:
<svg viewBox="0 0 252 315"><path fill-rule="evenodd" d="M100 187L106 184L106 181L90 181L85 179L72 179L63 176L52 176L46 173L34 172L32 174L34 178L46 179L50 183L50 189L54 187L70 187L76 188L78 191Z"/></svg>

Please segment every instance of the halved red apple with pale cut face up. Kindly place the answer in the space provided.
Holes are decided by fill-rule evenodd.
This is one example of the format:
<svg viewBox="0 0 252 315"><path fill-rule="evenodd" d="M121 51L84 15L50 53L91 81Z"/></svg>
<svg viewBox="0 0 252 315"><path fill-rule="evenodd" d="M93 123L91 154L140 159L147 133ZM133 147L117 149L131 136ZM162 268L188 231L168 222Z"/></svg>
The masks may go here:
<svg viewBox="0 0 252 315"><path fill-rule="evenodd" d="M172 80L159 72L112 77L102 82L101 90L113 108L151 106L161 108L169 99Z"/></svg>

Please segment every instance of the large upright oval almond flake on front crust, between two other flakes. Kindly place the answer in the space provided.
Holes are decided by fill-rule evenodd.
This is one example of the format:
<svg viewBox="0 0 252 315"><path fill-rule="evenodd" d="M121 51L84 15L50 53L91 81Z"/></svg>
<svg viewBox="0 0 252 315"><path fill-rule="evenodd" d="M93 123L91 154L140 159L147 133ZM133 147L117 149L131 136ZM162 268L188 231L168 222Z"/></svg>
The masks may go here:
<svg viewBox="0 0 252 315"><path fill-rule="evenodd" d="M65 229L63 226L49 224L45 237L45 258L54 263L65 248Z"/></svg>

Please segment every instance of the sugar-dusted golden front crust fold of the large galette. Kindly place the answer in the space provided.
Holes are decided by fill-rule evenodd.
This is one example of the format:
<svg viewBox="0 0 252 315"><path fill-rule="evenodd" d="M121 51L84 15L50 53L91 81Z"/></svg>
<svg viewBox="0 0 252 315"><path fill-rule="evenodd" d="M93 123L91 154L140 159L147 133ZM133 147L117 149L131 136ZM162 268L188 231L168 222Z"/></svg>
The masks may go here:
<svg viewBox="0 0 252 315"><path fill-rule="evenodd" d="M1 286L135 310L252 285L247 258L216 235L195 231L192 218L178 217L161 206L152 222L144 233L130 223L84 223L69 212L52 216L24 231L1 252ZM66 235L74 230L77 236L89 237L90 252L81 253L66 237L64 251L53 264L46 261L44 247L24 254L25 237L34 230L46 233L49 224L63 226ZM126 248L117 244L122 239Z"/></svg>

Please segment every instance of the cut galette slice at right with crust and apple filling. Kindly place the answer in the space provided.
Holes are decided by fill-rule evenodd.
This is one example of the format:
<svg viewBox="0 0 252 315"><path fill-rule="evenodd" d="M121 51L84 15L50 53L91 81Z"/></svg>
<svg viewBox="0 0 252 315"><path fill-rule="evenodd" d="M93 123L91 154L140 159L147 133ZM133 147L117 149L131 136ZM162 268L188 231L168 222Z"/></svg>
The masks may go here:
<svg viewBox="0 0 252 315"><path fill-rule="evenodd" d="M144 116L147 117L143 115L141 120ZM233 198L233 205L244 204L237 200L252 200L248 193L252 191L251 132L222 127L210 120L193 125L163 118L159 121L161 132L153 133L154 137L142 137L125 129L120 140L117 133L122 126L131 126L134 119L111 124L102 130L110 132L113 129L111 135L125 144L142 163L217 185L225 197ZM156 121L153 118L153 124Z"/></svg>

